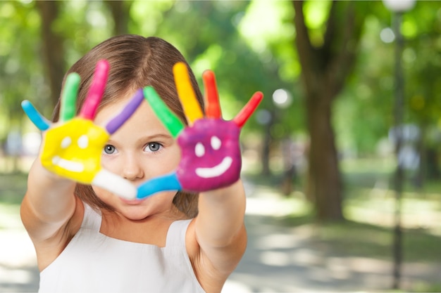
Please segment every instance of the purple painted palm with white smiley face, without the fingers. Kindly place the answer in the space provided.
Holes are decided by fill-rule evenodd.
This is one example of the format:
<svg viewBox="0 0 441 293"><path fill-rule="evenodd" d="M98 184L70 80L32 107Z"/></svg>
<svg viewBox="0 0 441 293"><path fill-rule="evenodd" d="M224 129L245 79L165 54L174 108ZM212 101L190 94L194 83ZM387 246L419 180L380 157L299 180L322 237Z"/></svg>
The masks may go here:
<svg viewBox="0 0 441 293"><path fill-rule="evenodd" d="M235 182L242 164L239 135L240 128L223 119L200 119L182 131L182 159L176 170L182 188L213 190Z"/></svg>

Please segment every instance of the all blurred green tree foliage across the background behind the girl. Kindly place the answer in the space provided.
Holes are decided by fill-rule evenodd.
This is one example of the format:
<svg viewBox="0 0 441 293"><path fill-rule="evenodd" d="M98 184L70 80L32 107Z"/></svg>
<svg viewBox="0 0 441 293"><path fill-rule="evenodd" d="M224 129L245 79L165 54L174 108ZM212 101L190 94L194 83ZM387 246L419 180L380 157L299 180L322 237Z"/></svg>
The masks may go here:
<svg viewBox="0 0 441 293"><path fill-rule="evenodd" d="M339 38L342 41L348 28L344 18L348 2L333 3L304 1L304 25L313 54L320 57L314 61L316 66L327 64L340 53ZM331 11L333 5L335 9ZM354 1L352 5L357 13L366 15L354 70L342 67L341 70L348 70L342 72L323 67L332 73L330 77L347 74L347 79L337 89L328 86L322 90L337 95L330 108L336 152L369 155L376 152L380 139L387 138L393 122L391 13L381 1ZM182 51L199 82L203 70L216 72L225 118L235 115L254 91L263 91L265 98L259 110L268 111L273 119L266 126L251 119L245 132L266 136L268 145L290 135L309 135L307 100L299 82L302 70L308 68L302 68L297 53L295 40L299 32L294 27L291 1L71 0L57 1L57 6L58 13L48 27L62 43L64 62L63 68L58 67L58 77L90 48L113 34L155 35ZM439 134L441 127L441 8L437 1L417 1L403 19L405 122L421 126L426 148L438 151L439 138L432 134ZM32 100L46 117L54 107L50 98L54 89L51 90L44 65L43 23L42 10L35 1L0 1L0 141L13 124L23 121L21 100ZM333 42L329 41L330 31L334 33ZM46 48L49 56L51 50L54 48ZM273 103L276 89L291 93L293 102L288 108L280 109Z"/></svg>

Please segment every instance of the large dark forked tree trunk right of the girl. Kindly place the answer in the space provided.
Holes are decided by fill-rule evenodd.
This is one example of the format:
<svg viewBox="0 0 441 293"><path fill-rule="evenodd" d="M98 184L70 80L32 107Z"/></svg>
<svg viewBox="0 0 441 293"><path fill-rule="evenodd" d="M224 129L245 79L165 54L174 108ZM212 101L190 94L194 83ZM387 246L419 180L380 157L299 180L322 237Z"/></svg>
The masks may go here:
<svg viewBox="0 0 441 293"><path fill-rule="evenodd" d="M294 0L292 4L310 135L306 195L315 206L317 219L342 220L342 184L332 127L332 105L354 67L355 51L367 13L352 1L333 1L323 44L315 47L305 24L303 1Z"/></svg>

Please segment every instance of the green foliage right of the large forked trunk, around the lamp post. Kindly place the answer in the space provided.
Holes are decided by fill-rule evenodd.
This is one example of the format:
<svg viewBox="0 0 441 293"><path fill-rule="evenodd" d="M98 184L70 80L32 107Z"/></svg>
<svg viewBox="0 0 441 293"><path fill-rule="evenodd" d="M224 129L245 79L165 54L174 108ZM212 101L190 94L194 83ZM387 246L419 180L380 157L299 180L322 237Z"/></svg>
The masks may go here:
<svg viewBox="0 0 441 293"><path fill-rule="evenodd" d="M432 129L439 129L441 116L438 6L436 1L417 1L402 23L405 123L427 124ZM393 124L395 37L390 26L391 13L378 2L366 19L354 73L335 107L342 150L375 153L378 141L387 138Z"/></svg>

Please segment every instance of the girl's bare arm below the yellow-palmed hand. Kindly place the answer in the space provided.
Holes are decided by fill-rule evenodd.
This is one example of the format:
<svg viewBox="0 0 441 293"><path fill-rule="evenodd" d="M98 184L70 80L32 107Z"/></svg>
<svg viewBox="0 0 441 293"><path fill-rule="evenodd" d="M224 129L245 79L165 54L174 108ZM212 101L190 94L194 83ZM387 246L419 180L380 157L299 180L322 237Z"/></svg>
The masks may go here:
<svg viewBox="0 0 441 293"><path fill-rule="evenodd" d="M73 181L44 169L39 158L32 164L20 216L34 244L39 271L61 254L80 229L84 209L74 190Z"/></svg>

